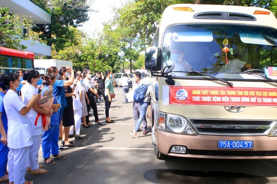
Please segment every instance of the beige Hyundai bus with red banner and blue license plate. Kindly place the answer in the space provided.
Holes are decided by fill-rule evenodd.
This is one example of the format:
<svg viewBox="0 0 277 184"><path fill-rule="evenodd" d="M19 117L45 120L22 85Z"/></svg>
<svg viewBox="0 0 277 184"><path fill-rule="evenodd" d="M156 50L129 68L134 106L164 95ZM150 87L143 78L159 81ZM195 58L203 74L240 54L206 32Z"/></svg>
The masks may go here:
<svg viewBox="0 0 277 184"><path fill-rule="evenodd" d="M145 66L157 158L277 158L277 20L257 7L167 7Z"/></svg>

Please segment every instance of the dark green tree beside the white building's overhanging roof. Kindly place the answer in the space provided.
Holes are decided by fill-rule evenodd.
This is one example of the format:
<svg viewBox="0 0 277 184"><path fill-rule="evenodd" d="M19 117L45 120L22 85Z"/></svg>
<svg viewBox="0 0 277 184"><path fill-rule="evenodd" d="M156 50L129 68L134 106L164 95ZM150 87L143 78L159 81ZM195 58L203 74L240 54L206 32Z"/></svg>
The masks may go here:
<svg viewBox="0 0 277 184"><path fill-rule="evenodd" d="M35 25L33 31L45 40L47 45L60 51L66 47L68 40L76 44L74 31L70 26L77 27L89 19L89 6L86 0L47 0L36 1L51 14L51 24Z"/></svg>

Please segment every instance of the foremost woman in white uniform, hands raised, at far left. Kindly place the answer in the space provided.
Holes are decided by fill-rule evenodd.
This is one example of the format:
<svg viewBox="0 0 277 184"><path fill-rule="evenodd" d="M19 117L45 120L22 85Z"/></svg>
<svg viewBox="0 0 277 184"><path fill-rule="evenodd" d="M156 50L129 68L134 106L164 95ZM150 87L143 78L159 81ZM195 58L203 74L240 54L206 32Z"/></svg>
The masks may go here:
<svg viewBox="0 0 277 184"><path fill-rule="evenodd" d="M36 94L24 104L17 95L22 87L19 76L14 73L4 74L3 90L7 90L4 96L4 106L8 118L8 167L10 183L32 184L33 181L25 181L26 169L29 162L30 146L33 145L32 132L27 113L36 106L41 95ZM49 112L48 112L49 113Z"/></svg>

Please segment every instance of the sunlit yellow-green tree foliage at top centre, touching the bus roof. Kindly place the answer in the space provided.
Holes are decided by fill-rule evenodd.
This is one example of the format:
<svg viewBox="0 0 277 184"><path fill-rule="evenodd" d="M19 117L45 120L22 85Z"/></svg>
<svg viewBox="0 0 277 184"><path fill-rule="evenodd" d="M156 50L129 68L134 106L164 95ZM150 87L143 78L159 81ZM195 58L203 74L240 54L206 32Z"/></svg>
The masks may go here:
<svg viewBox="0 0 277 184"><path fill-rule="evenodd" d="M114 24L123 29L131 29L132 38L138 38L140 45L151 43L151 36L157 28L157 24L164 9L172 4L172 0L136 0L127 2L122 7L115 9Z"/></svg>

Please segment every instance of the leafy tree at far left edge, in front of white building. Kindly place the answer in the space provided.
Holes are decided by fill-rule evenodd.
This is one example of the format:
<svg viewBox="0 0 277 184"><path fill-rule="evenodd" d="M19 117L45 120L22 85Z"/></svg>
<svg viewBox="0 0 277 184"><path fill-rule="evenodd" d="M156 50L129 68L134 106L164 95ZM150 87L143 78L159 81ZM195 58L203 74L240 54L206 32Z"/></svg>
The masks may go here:
<svg viewBox="0 0 277 184"><path fill-rule="evenodd" d="M27 49L25 45L20 44L21 40L28 39L28 35L22 34L22 25L29 30L32 26L32 20L27 17L10 15L9 8L0 7L0 45L11 49Z"/></svg>

